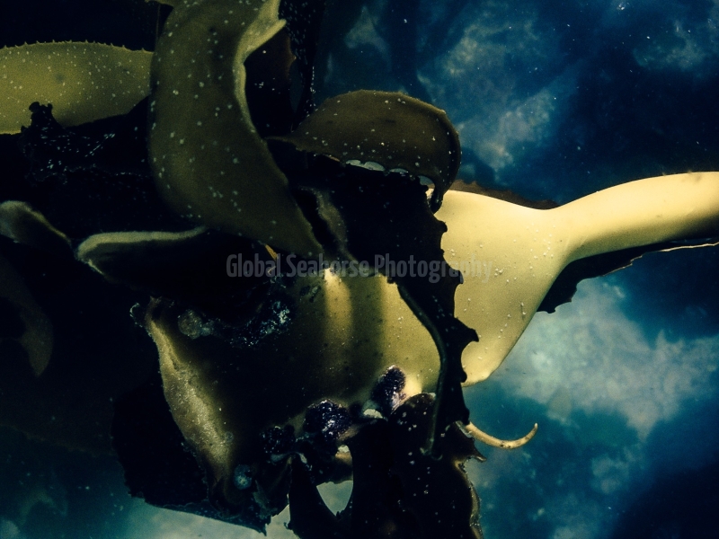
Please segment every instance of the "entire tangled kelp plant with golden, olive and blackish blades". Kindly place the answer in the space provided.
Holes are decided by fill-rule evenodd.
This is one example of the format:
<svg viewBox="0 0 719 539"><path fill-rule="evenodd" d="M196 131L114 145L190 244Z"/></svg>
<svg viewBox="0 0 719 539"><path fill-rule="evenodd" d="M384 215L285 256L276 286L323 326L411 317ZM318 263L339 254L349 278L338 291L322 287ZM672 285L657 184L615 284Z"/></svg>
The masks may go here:
<svg viewBox="0 0 719 539"><path fill-rule="evenodd" d="M396 537L480 536L478 501L461 470L480 455L463 432L476 430L460 384L490 376L573 261L625 251L619 265L671 240L715 235L719 174L632 182L546 210L461 192L458 137L441 110L370 91L313 110L316 35L307 29L321 8L177 3L149 68L146 52L113 48L120 59L104 59L105 46L4 49L6 95L17 93L1 111L2 127L30 123L18 138L35 182L26 199L0 207L3 234L14 242L4 244L3 296L24 328L18 353L42 385L63 350L62 321L36 299L40 279L27 275L23 259L77 276L74 294L88 305L97 290L117 290L102 276L133 290L132 303L142 298L132 313L156 347L123 343L120 355L140 356L143 367L103 388L118 400L114 450L134 493L260 530L289 502L301 537L389 529ZM78 98L63 105L57 95L68 80L97 86L64 71L76 55L118 77L97 97L82 92L89 117ZM48 64L48 56L60 60ZM310 68L300 70L302 97L293 105L295 56ZM28 65L40 84L17 83L32 74ZM58 83L48 83L48 94L21 92L48 81ZM117 108L118 87L140 92ZM137 104L146 93L149 102ZM29 122L22 114L36 101L52 108L32 105ZM123 112L124 126L83 128ZM69 195L49 196L83 191L92 199L119 177L134 179L137 208L127 212L67 215ZM431 182L429 197L418 177ZM460 284L443 252L467 261L478 249L498 273ZM320 255L329 268L312 266ZM281 272L292 256L306 271ZM241 258L253 268L232 277ZM416 274L390 269L393 260L415 261ZM469 299L472 308L457 312ZM114 329L131 332L127 323ZM159 380L146 367L157 356ZM72 443L73 433L65 436ZM350 475L351 504L335 517L315 485ZM427 498L413 500L419 493Z"/></svg>

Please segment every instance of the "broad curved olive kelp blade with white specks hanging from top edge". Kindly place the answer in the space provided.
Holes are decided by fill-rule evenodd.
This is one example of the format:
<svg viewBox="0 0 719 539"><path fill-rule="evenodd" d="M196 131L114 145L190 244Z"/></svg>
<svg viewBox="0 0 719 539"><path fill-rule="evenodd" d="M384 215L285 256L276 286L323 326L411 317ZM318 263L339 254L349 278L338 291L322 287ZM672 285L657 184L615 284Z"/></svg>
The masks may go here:
<svg viewBox="0 0 719 539"><path fill-rule="evenodd" d="M284 26L279 4L174 8L153 57L149 152L157 189L177 213L310 256L322 249L244 96L244 61Z"/></svg>

